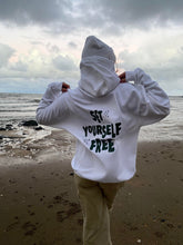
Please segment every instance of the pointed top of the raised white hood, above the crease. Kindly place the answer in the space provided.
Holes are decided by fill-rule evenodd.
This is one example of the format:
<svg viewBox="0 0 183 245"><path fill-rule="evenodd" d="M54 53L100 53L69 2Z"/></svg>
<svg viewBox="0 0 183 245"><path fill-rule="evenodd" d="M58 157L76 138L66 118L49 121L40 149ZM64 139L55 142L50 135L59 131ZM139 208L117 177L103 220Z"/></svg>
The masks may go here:
<svg viewBox="0 0 183 245"><path fill-rule="evenodd" d="M115 62L113 49L94 36L89 36L82 51L82 59L91 56L103 57Z"/></svg>

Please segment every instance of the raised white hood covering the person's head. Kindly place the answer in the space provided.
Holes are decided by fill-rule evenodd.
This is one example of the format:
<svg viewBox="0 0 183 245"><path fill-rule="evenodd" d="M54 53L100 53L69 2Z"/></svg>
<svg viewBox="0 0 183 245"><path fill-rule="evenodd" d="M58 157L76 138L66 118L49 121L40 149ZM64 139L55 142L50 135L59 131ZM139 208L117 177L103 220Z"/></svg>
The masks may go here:
<svg viewBox="0 0 183 245"><path fill-rule="evenodd" d="M93 97L112 91L120 84L114 62L112 48L93 36L88 37L80 62L79 88Z"/></svg>

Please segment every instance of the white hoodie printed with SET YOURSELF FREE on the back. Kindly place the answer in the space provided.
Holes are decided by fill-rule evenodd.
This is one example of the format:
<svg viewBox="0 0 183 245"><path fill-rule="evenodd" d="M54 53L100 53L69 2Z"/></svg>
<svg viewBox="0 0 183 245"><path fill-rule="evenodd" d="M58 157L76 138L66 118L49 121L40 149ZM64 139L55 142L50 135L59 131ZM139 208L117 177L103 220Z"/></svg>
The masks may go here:
<svg viewBox="0 0 183 245"><path fill-rule="evenodd" d="M124 182L135 173L141 126L169 115L166 94L143 70L126 71L120 84L110 47L89 37L81 60L79 87L61 94L49 85L37 110L39 124L64 128L75 136L75 174L101 183Z"/></svg>

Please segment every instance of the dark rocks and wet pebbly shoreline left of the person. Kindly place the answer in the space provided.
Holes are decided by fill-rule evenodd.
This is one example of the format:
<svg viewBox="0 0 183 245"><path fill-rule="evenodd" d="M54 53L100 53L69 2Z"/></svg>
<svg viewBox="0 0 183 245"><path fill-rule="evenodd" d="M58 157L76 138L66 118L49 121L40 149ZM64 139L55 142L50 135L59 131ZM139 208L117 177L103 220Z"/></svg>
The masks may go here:
<svg viewBox="0 0 183 245"><path fill-rule="evenodd" d="M30 144L51 134L35 120L22 120L0 127L0 156L32 157L38 150ZM27 151L24 151L27 150Z"/></svg>

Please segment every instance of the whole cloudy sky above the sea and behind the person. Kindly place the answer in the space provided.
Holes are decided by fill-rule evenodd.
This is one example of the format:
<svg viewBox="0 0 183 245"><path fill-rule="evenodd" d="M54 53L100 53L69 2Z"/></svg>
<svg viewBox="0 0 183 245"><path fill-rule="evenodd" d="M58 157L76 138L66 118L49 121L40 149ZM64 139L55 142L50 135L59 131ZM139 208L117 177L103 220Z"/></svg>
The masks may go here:
<svg viewBox="0 0 183 245"><path fill-rule="evenodd" d="M141 67L183 95L182 0L0 0L0 92L77 87L90 35L114 49L119 72Z"/></svg>

